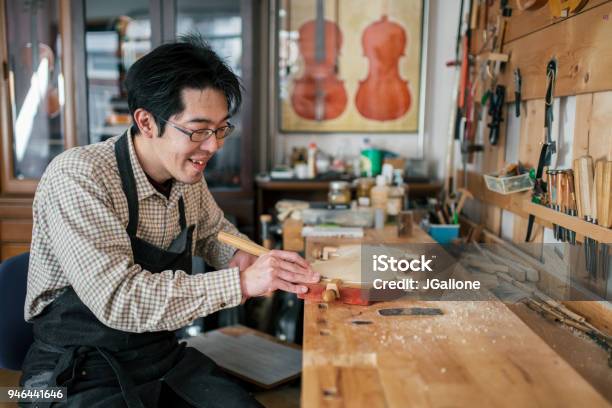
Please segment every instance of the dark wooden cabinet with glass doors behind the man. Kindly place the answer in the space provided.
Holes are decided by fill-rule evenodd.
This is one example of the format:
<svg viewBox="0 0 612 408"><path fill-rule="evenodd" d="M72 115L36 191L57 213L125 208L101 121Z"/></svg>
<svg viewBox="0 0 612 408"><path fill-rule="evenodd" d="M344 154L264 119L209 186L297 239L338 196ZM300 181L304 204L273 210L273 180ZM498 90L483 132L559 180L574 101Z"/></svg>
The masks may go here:
<svg viewBox="0 0 612 408"><path fill-rule="evenodd" d="M31 202L48 163L127 128L122 82L131 64L192 31L226 59L246 90L232 121L237 131L209 163L206 179L226 214L252 234L258 4L0 0L0 222L9 222L0 231L0 260L28 248Z"/></svg>

